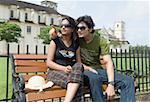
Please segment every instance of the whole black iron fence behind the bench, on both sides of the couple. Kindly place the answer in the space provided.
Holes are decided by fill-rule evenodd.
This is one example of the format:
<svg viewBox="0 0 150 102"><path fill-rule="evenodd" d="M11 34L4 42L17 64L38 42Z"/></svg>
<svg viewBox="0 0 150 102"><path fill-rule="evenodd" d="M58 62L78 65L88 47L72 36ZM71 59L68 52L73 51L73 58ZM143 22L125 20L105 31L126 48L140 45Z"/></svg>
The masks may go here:
<svg viewBox="0 0 150 102"><path fill-rule="evenodd" d="M9 85L9 82L11 81L9 73L11 73L11 67L9 65L9 54L10 54L10 46L8 44L7 46L7 54L6 55L0 55L0 58L5 58L6 59L6 65L4 68L6 72L6 83L5 83L5 97L0 96L0 101L8 101L11 100L11 85ZM39 47L36 45L35 46L35 52L34 54L39 54L38 53ZM41 50L41 49L40 49ZM43 54L46 54L47 52L47 47L43 45ZM16 50L17 54L21 54L20 52L20 45L17 46ZM31 54L29 45L26 46L26 51L25 54ZM41 53L40 53L41 54ZM139 48L134 48L134 49L129 49L127 50L117 50L114 52L111 50L111 56L114 62L115 70L119 71L124 74L131 75L135 81L138 84L137 91L139 92L145 92L150 90L150 48L144 48L144 49L139 49ZM3 64L3 63L1 63ZM1 81L0 81L1 85ZM0 86L1 87L1 86Z"/></svg>

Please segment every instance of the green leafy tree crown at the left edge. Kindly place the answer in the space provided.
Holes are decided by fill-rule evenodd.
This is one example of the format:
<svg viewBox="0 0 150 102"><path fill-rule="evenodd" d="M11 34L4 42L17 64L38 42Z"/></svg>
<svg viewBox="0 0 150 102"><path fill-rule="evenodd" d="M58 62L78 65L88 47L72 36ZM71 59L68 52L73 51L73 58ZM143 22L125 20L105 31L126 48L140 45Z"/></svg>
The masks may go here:
<svg viewBox="0 0 150 102"><path fill-rule="evenodd" d="M17 24L0 24L0 41L18 42L21 37L21 28Z"/></svg>

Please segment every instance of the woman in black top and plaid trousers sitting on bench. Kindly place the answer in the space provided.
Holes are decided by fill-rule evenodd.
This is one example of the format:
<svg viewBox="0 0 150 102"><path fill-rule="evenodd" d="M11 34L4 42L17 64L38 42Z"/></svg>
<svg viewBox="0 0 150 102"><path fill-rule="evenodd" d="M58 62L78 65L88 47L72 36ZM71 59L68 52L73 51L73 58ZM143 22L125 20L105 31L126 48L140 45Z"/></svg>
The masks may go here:
<svg viewBox="0 0 150 102"><path fill-rule="evenodd" d="M48 80L66 88L64 102L84 102L83 67L80 63L79 42L73 18L61 22L61 37L51 40L47 56Z"/></svg>

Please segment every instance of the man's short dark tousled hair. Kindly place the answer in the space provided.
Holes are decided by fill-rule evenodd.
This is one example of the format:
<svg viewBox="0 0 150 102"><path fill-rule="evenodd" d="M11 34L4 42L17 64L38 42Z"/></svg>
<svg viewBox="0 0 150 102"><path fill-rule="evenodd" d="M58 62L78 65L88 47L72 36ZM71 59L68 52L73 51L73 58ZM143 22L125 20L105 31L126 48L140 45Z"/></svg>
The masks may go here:
<svg viewBox="0 0 150 102"><path fill-rule="evenodd" d="M91 16L85 15L85 16L81 16L77 19L77 24L79 24L80 22L84 22L89 29L93 29L93 31L91 33L94 32L94 22Z"/></svg>

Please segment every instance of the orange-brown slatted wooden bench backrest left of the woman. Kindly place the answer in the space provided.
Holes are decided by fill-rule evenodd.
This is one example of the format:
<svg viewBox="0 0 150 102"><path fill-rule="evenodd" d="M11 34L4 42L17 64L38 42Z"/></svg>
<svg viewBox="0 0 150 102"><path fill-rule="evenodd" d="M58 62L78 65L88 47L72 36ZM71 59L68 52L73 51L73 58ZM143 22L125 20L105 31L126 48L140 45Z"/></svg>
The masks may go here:
<svg viewBox="0 0 150 102"><path fill-rule="evenodd" d="M47 65L46 65L47 55L12 55L12 73L21 74L25 81L33 75L40 75L46 78Z"/></svg>

